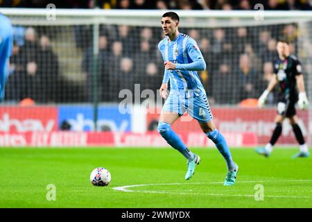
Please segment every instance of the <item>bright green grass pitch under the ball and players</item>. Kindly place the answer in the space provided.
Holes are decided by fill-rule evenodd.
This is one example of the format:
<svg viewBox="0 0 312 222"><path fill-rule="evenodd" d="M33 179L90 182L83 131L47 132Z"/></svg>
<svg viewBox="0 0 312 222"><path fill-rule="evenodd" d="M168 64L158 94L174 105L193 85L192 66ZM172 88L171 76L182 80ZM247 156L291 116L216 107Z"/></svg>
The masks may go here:
<svg viewBox="0 0 312 222"><path fill-rule="evenodd" d="M223 186L216 148L191 150L202 161L186 181L187 162L173 148L0 148L0 207L312 207L312 158L292 159L297 148L275 148L269 158L232 148L232 187ZM109 169L108 187L92 186L96 167ZM49 184L54 201L46 199Z"/></svg>

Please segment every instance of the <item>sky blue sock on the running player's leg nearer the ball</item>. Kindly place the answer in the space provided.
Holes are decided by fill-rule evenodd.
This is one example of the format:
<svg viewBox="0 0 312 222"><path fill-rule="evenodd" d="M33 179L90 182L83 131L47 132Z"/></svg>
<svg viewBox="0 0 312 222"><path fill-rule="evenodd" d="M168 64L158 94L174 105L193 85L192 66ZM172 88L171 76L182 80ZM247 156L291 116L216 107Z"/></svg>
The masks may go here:
<svg viewBox="0 0 312 222"><path fill-rule="evenodd" d="M164 139L166 139L166 142L171 145L173 148L175 148L177 151L182 153L184 157L187 158L187 160L193 160L195 155L189 151L187 146L182 142L180 137L171 129L171 126L169 123L165 122L159 122L158 123L158 132Z"/></svg>

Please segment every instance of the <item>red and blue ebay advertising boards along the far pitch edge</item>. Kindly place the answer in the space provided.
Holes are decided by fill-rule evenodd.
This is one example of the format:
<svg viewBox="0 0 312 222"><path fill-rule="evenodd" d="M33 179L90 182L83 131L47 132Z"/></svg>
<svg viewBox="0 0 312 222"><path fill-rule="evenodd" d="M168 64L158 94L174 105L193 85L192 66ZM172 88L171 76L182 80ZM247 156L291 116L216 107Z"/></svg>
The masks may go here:
<svg viewBox="0 0 312 222"><path fill-rule="evenodd" d="M225 135L229 146L266 144L275 128L275 109L213 108L214 122ZM311 111L310 111L311 112ZM159 114L147 112L142 128L153 131L134 133L132 114L121 114L117 105L98 108L97 131L94 131L93 108L87 105L0 107L0 146L168 146L157 133ZM312 123L308 111L299 111L299 125L309 142ZM66 121L70 130L62 130ZM146 126L145 126L146 125ZM188 146L209 146L210 142L195 120L178 120L173 129ZM277 144L297 144L291 125L285 121Z"/></svg>

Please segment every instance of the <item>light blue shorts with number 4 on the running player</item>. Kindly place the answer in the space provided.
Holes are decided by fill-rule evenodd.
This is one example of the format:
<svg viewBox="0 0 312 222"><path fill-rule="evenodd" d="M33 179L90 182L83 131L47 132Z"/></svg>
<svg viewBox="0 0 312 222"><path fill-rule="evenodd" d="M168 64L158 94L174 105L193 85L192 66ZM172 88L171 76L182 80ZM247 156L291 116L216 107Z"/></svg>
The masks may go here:
<svg viewBox="0 0 312 222"><path fill-rule="evenodd" d="M198 120L200 123L207 123L213 119L209 108L209 102L205 94L186 98L185 95L170 93L162 108L162 112L168 111L175 112L180 116L182 116L184 112L187 112L189 116ZM185 117L181 120L191 121L191 118Z"/></svg>

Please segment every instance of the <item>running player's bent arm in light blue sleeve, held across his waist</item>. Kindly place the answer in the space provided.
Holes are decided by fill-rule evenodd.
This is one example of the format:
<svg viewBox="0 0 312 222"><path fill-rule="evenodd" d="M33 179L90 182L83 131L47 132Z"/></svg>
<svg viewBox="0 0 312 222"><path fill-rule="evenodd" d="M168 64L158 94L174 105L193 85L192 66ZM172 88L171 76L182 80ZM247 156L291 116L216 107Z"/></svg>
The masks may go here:
<svg viewBox="0 0 312 222"><path fill-rule="evenodd" d="M187 64L173 63L170 61L164 62L166 69L180 69L180 70L188 70L188 71L200 71L206 69L206 62L200 49L198 48L197 43L193 39L187 40L187 54L189 58L191 58L192 62Z"/></svg>

